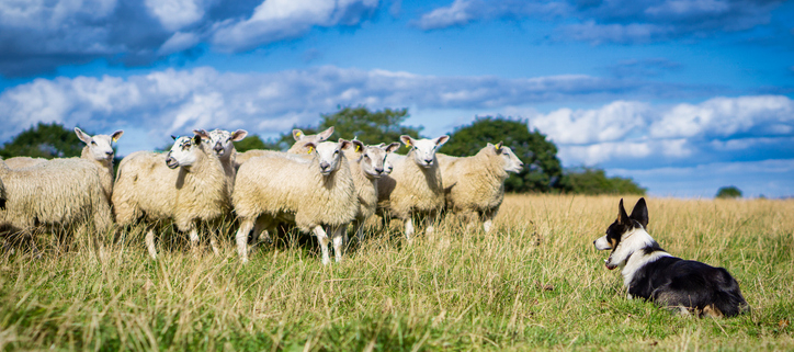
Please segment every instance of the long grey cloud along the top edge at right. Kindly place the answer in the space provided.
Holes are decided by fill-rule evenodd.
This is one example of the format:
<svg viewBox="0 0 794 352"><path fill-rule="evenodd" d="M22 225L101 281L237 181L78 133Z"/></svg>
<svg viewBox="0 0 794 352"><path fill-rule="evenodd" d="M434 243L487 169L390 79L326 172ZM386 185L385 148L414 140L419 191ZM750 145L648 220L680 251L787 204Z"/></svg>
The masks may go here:
<svg viewBox="0 0 794 352"><path fill-rule="evenodd" d="M423 30L465 25L479 20L568 19L558 38L599 43L649 43L747 31L771 21L782 0L615 0L514 1L455 0L423 14ZM578 23L570 23L578 21Z"/></svg>

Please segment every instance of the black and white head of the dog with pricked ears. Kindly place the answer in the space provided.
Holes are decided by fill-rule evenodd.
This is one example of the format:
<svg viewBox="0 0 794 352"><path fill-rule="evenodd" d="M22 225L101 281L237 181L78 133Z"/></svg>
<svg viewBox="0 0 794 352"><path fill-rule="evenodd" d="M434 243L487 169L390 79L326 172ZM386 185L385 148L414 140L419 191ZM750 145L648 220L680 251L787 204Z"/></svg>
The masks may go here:
<svg viewBox="0 0 794 352"><path fill-rule="evenodd" d="M631 253L621 253L621 249L626 247L621 245L634 234L635 229L645 229L646 226L648 226L648 207L645 205L645 198L637 201L632 215L626 214L623 200L621 200L617 205L617 219L606 228L606 235L593 241L598 250L612 250L610 258L605 261L606 269L612 270L625 265L625 261Z"/></svg>

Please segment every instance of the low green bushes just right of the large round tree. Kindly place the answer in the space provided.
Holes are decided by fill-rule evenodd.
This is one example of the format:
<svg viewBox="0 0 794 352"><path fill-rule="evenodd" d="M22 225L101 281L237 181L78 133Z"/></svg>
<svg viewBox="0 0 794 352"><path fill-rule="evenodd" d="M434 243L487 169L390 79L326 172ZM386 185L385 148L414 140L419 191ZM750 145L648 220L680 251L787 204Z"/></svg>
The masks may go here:
<svg viewBox="0 0 794 352"><path fill-rule="evenodd" d="M563 183L568 192L576 194L637 194L645 195L646 189L631 178L608 178L604 170L581 168L566 171Z"/></svg>

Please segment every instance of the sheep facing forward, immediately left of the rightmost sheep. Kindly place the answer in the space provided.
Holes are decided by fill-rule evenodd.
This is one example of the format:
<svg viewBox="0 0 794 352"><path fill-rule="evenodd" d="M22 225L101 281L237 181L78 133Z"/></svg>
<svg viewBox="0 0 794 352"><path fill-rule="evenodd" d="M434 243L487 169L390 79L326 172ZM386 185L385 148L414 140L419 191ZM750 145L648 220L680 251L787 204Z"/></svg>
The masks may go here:
<svg viewBox="0 0 794 352"><path fill-rule="evenodd" d="M405 157L387 158L394 164L394 171L377 182L378 209L382 216L384 219L388 216L405 220L408 241L415 232L413 216L423 217L426 232L432 234L433 226L430 222L444 206L441 170L435 159L435 150L449 139L450 136L435 139L400 136L400 140L411 149Z"/></svg>

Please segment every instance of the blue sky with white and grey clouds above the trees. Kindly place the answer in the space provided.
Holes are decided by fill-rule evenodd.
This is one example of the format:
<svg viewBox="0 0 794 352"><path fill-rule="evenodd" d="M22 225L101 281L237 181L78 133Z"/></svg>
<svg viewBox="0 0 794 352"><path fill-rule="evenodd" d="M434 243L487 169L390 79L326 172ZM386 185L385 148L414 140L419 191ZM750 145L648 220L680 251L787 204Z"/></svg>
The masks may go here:
<svg viewBox="0 0 794 352"><path fill-rule="evenodd" d="M359 105L525 121L654 196L789 197L794 2L0 0L0 143L57 122L123 156Z"/></svg>

